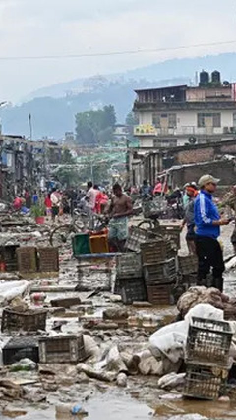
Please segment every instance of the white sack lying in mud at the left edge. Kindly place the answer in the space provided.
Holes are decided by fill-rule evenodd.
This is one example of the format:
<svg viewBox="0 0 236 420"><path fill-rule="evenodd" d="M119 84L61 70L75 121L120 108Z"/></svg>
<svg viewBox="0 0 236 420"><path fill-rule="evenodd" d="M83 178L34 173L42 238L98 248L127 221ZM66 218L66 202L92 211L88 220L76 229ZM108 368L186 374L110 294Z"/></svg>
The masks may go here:
<svg viewBox="0 0 236 420"><path fill-rule="evenodd" d="M17 296L23 296L29 289L29 281L0 281L0 305L7 305Z"/></svg>

